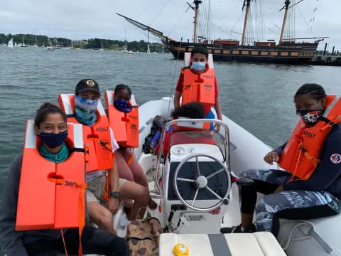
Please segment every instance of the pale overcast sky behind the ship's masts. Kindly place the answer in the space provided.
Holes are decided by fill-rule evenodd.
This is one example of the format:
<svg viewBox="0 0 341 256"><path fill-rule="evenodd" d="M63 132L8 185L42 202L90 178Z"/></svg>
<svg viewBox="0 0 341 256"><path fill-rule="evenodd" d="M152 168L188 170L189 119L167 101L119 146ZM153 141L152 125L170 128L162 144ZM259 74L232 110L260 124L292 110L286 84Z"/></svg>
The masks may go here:
<svg viewBox="0 0 341 256"><path fill-rule="evenodd" d="M202 10L209 0L204 0ZM266 39L278 41L284 0L264 3ZM298 2L299 0L296 0ZM240 40L243 0L211 0L212 38ZM71 39L109 38L139 41L146 32L115 13L124 14L183 41L192 38L193 11L186 0L0 0L0 33L35 33ZM317 9L316 9L317 8ZM297 5L296 38L329 36L328 49L341 50L341 1L304 0ZM234 31L231 33L231 31ZM156 41L155 39L153 41ZM319 48L324 47L324 42Z"/></svg>

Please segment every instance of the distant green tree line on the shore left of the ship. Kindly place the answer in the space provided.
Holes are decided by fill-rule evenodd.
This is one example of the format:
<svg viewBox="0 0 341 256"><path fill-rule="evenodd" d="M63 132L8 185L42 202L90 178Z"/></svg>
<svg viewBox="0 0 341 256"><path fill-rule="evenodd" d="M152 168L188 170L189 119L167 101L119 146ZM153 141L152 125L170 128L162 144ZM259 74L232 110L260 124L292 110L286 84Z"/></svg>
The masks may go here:
<svg viewBox="0 0 341 256"><path fill-rule="evenodd" d="M12 35L0 33L0 44L7 44L13 38L13 42L15 43L25 43L26 46L60 46L60 47L71 47L74 48L83 48L83 49L108 49L108 50L133 50L133 51L147 51L148 42L141 41L119 41L119 40L111 40L111 39L101 39L101 38L91 38L86 40L74 40L72 41L69 38L58 38L53 37L50 38L48 36L42 35L33 35L33 34L16 34ZM163 46L161 43L150 43L150 51L160 51L163 50ZM166 49L165 49L166 51Z"/></svg>

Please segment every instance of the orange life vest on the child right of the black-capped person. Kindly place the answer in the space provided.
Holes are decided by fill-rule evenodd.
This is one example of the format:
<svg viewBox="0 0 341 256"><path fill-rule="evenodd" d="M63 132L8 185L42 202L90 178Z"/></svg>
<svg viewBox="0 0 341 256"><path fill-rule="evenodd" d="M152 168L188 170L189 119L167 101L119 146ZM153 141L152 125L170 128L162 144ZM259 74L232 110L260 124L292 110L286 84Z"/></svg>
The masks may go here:
<svg viewBox="0 0 341 256"><path fill-rule="evenodd" d="M131 95L133 110L124 113L114 106L114 92L107 90L104 95L107 104L109 124L114 131L114 137L121 146L139 147L139 108L134 95Z"/></svg>

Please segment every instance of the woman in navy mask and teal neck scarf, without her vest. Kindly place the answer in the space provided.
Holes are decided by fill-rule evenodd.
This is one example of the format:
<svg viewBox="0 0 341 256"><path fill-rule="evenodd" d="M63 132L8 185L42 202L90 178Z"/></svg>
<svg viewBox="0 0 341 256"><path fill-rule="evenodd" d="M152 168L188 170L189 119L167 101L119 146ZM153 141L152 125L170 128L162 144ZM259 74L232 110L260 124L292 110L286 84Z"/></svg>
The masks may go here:
<svg viewBox="0 0 341 256"><path fill-rule="evenodd" d="M65 144L67 123L62 110L51 103L43 104L37 112L34 125L36 134L43 142L38 149L40 155L56 164L65 161L70 156L70 149ZM60 230L16 231L14 229L22 161L22 155L13 161L0 203L1 250L8 256L64 255L65 248ZM35 162L32 159L32 167L34 166ZM78 228L65 229L63 235L67 252L72 255L77 254ZM124 239L109 234L105 230L94 228L88 222L81 238L82 252L85 254L130 255L129 247Z"/></svg>

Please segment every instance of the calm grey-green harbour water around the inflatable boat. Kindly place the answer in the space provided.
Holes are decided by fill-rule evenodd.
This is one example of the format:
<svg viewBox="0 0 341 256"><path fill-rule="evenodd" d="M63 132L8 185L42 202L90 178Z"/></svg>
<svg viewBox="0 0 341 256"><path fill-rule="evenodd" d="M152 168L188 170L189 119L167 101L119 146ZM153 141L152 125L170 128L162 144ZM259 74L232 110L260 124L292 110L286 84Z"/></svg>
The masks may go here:
<svg viewBox="0 0 341 256"><path fill-rule="evenodd" d="M26 119L42 102L56 103L59 93L92 78L102 92L129 85L141 105L173 94L182 64L171 54L0 46L0 196L9 165L22 151ZM293 94L300 85L318 82L335 94L341 89L338 67L215 63L215 70L222 112L271 146L283 143L296 124Z"/></svg>

